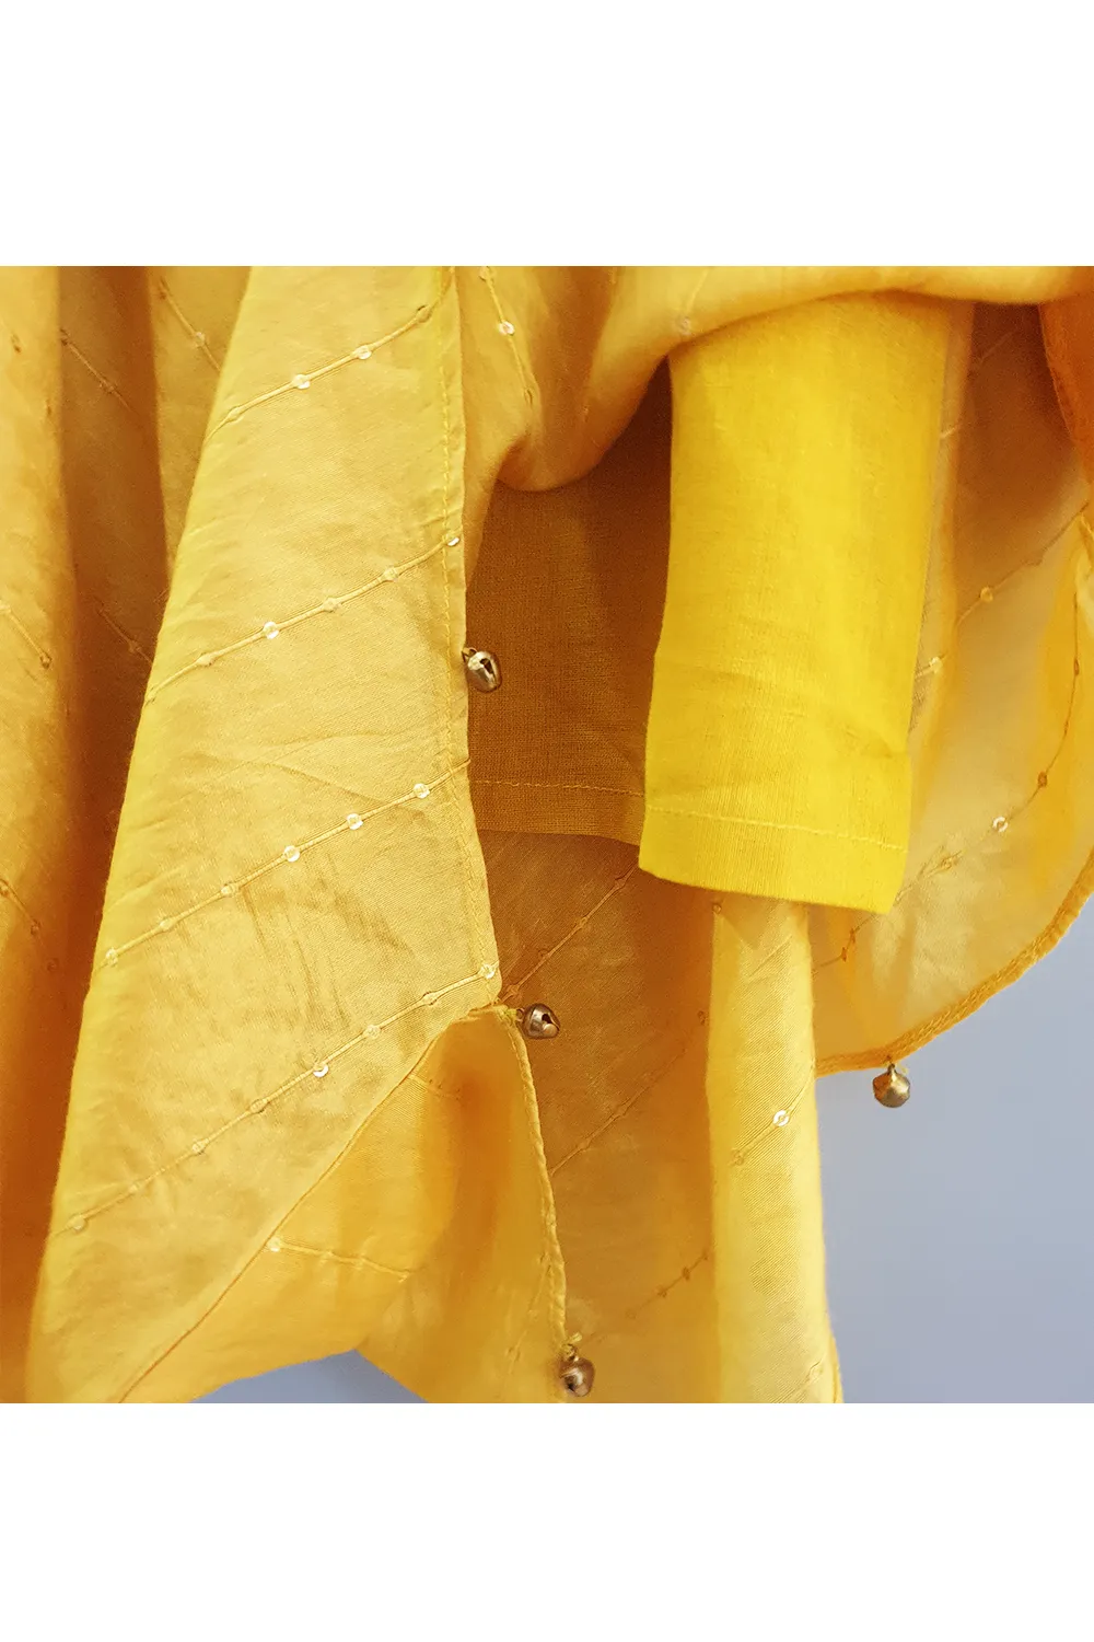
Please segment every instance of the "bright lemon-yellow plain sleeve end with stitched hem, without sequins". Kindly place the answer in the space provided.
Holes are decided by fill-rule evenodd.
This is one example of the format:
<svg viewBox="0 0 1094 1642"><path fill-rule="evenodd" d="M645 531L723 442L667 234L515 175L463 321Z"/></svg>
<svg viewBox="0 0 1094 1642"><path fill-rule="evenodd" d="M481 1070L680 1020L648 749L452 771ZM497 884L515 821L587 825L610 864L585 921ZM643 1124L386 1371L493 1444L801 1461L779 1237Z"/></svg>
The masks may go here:
<svg viewBox="0 0 1094 1642"><path fill-rule="evenodd" d="M646 872L892 906L950 319L828 297L672 356Z"/></svg>

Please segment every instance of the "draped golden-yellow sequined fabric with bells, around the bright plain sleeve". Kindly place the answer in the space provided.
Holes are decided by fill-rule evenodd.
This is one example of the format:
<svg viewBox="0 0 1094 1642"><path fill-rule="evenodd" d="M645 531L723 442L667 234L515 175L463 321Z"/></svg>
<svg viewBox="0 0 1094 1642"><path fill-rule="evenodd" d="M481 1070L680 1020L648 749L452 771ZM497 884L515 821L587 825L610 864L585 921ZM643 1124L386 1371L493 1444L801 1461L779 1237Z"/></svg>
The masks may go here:
<svg viewBox="0 0 1094 1642"><path fill-rule="evenodd" d="M815 1077L968 1013L1094 878L1092 289L3 273L5 1396L359 1346L549 1401L574 1332L604 1401L840 1396ZM886 913L669 882L638 864L666 361L886 292L951 332L904 882ZM471 703L467 640L504 672Z"/></svg>

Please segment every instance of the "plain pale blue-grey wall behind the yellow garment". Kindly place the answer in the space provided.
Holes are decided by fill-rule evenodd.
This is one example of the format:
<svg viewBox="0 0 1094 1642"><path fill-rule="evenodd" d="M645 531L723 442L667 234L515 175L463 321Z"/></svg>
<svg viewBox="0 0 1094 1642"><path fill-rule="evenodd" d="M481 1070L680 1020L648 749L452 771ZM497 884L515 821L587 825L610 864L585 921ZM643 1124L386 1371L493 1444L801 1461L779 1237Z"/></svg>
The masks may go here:
<svg viewBox="0 0 1094 1642"><path fill-rule="evenodd" d="M1094 1401L1094 908L907 1061L820 1082L828 1299L848 1402ZM356 1353L205 1402L415 1402Z"/></svg>

